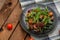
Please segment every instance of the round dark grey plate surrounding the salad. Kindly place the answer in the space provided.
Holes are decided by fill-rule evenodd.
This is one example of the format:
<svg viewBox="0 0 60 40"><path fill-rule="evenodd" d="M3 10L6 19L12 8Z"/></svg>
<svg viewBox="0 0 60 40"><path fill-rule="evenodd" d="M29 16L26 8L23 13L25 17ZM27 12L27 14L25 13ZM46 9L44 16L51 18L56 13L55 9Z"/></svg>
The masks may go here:
<svg viewBox="0 0 60 40"><path fill-rule="evenodd" d="M34 31L33 31L33 32L32 32L32 31L29 31L29 30L27 29L28 26L27 26L27 24L26 24L26 22L25 22L25 15L26 15L27 10L32 9L32 8L36 8L36 7L40 7L40 8L42 8L42 9L44 9L45 7L48 7L48 6L42 5L42 4L31 4L31 5L28 5L28 6L23 10L23 12L22 12L22 14L21 14L21 16L20 16L20 17L21 17L20 24L21 24L22 28L23 28L27 33L29 33L30 35L36 36L36 37L45 37L45 36L47 36L49 33L51 33L51 32L55 29L56 24L57 24L57 16L56 16L56 13L54 12L54 10L53 10L52 8L48 7L48 9L51 10L51 11L54 13L54 23L53 23L52 29L49 30L49 31L47 31L47 32L45 32L45 33L43 33L43 34L41 34L41 33L35 33Z"/></svg>

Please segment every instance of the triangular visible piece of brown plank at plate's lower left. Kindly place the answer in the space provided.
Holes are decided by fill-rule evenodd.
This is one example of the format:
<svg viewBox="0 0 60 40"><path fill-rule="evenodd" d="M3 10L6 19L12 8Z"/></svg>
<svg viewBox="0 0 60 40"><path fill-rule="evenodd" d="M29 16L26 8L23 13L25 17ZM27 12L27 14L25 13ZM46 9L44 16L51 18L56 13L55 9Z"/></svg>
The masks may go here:
<svg viewBox="0 0 60 40"><path fill-rule="evenodd" d="M10 40L24 40L25 35L26 32L18 25Z"/></svg>

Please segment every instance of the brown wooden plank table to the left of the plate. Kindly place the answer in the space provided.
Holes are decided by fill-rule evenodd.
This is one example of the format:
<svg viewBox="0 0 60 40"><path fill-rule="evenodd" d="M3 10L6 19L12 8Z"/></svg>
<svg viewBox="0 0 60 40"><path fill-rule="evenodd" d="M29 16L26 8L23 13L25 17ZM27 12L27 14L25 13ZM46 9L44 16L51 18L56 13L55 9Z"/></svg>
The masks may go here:
<svg viewBox="0 0 60 40"><path fill-rule="evenodd" d="M19 0L6 0L0 10L0 40L24 40L26 32L19 24L20 15L22 13ZM12 30L7 29L7 24L13 25ZM26 40L28 40L27 38Z"/></svg>

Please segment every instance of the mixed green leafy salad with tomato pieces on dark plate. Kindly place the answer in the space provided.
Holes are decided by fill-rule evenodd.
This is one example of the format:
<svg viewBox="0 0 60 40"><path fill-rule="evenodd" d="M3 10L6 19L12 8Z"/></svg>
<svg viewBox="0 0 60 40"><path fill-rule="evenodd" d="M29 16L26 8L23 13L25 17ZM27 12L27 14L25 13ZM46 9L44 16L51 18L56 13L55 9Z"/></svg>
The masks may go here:
<svg viewBox="0 0 60 40"><path fill-rule="evenodd" d="M37 7L26 12L25 21L30 31L44 33L53 27L54 15L47 7Z"/></svg>

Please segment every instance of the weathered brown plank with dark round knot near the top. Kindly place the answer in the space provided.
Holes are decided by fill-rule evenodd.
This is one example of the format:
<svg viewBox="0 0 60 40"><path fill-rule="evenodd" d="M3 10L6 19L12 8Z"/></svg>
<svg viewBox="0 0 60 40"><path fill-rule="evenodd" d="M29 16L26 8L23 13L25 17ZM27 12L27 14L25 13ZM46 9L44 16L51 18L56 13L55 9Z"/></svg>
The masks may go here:
<svg viewBox="0 0 60 40"><path fill-rule="evenodd" d="M12 3L11 6L9 6L9 2ZM10 15L10 12L14 9L16 6L18 0L11 0L11 1L6 1L4 6L2 7L0 11L0 27L4 24L4 22L7 20L8 16Z"/></svg>

